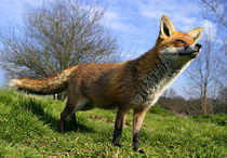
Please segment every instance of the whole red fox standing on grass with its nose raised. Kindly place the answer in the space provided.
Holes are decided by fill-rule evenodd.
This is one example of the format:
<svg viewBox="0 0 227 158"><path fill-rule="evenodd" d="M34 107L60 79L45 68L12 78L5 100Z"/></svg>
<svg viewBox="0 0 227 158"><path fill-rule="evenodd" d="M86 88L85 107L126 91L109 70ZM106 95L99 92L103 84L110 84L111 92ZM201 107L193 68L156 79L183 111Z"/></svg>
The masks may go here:
<svg viewBox="0 0 227 158"><path fill-rule="evenodd" d="M14 79L9 84L41 94L67 90L68 100L61 114L62 131L66 118L71 116L76 122L75 111L83 107L117 108L112 139L117 146L126 115L133 109L133 149L144 153L139 148L139 133L146 111L198 56L202 45L197 41L202 32L202 27L187 34L176 31L163 15L156 45L138 58L119 64L77 65L45 79Z"/></svg>

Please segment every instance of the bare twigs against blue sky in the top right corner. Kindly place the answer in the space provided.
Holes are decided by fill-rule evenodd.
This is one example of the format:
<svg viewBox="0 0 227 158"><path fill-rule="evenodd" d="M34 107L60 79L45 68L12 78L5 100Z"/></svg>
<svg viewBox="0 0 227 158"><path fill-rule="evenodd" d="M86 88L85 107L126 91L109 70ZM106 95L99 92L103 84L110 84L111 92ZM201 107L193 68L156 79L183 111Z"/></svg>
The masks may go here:
<svg viewBox="0 0 227 158"><path fill-rule="evenodd" d="M226 0L200 0L204 6L203 17L227 27L226 22Z"/></svg>

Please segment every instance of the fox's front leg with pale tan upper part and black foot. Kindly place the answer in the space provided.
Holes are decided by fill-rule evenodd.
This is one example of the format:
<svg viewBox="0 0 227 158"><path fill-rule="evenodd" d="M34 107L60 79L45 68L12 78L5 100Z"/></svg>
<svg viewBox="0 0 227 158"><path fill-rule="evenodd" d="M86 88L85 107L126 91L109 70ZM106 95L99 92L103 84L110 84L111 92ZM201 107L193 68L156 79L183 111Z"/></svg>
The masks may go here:
<svg viewBox="0 0 227 158"><path fill-rule="evenodd" d="M139 148L139 134L141 134L141 128L142 128L145 115L146 115L146 110L136 111L136 109L134 109L134 114L133 114L133 150L137 150L139 153L144 153L144 150Z"/></svg>

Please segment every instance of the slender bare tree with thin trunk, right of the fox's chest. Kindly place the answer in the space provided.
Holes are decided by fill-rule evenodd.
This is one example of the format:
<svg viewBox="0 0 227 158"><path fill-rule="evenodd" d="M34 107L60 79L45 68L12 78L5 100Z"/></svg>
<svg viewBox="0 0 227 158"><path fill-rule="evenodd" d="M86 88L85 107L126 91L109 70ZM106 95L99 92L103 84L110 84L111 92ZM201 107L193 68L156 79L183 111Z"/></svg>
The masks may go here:
<svg viewBox="0 0 227 158"><path fill-rule="evenodd" d="M201 54L185 73L189 83L184 89L190 95L200 96L201 114L208 113L208 97L217 97L226 78L224 73L226 44L225 49L217 49L217 45L216 36L211 31L206 32Z"/></svg>

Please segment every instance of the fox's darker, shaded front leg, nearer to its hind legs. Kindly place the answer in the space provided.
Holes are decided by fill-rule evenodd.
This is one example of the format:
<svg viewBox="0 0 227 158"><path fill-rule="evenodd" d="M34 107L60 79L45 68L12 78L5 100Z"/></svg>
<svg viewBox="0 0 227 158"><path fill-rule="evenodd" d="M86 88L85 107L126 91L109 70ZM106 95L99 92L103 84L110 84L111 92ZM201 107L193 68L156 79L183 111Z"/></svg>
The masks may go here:
<svg viewBox="0 0 227 158"><path fill-rule="evenodd" d="M119 141L121 137L121 132L122 132L123 123L126 119L128 113L129 113L129 109L119 108L117 117L116 117L112 143L119 147L120 147Z"/></svg>

